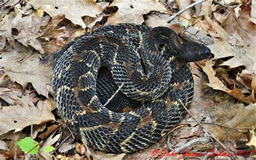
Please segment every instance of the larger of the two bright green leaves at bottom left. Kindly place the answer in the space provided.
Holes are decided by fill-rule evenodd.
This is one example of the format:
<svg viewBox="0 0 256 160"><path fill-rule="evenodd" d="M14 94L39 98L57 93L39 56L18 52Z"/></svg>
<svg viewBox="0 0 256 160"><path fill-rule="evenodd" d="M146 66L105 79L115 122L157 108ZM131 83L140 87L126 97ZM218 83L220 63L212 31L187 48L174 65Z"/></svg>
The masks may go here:
<svg viewBox="0 0 256 160"><path fill-rule="evenodd" d="M29 152L33 147L35 147L35 145L38 145L38 142L36 142L35 140L33 140L30 137L25 137L24 139L22 139L21 141L17 141L17 145L19 146L19 148L21 148L22 151L24 152ZM33 150L31 150L29 152L29 154L31 155L35 155L37 154L39 150L39 145L34 148Z"/></svg>

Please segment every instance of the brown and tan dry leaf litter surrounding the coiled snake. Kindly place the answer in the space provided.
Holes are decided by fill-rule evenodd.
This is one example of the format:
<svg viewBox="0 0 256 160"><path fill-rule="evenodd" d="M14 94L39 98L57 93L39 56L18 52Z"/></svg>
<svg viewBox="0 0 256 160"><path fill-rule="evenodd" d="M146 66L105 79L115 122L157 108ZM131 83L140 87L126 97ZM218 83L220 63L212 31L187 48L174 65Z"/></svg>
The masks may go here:
<svg viewBox="0 0 256 160"><path fill-rule="evenodd" d="M88 158L85 152L93 159L153 159L194 138L209 136L187 114L169 136L134 154L95 151L72 136L60 145L70 134L71 122L59 120L52 97L52 62L39 61L86 32L117 23L167 26L186 40L207 44L212 57L191 63L195 93L190 112L230 150L255 147L256 2L206 1L167 23L190 4L181 0L73 1L72 5L64 1L4 2L0 12L0 155L13 158L14 140L32 136L59 148L57 154L42 151L39 156L46 159ZM188 148L204 152L221 145L211 142ZM156 149L162 152L152 156ZM16 152L19 157L24 155L20 149Z"/></svg>

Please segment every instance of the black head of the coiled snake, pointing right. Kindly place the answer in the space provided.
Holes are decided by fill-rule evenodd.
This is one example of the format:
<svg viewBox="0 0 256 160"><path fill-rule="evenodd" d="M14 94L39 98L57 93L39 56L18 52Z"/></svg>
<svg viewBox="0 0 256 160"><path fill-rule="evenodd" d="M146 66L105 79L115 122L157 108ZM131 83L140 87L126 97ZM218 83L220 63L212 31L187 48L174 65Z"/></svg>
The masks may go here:
<svg viewBox="0 0 256 160"><path fill-rule="evenodd" d="M211 54L210 48L195 41L186 41L179 48L180 51L177 58L187 62L203 60Z"/></svg>

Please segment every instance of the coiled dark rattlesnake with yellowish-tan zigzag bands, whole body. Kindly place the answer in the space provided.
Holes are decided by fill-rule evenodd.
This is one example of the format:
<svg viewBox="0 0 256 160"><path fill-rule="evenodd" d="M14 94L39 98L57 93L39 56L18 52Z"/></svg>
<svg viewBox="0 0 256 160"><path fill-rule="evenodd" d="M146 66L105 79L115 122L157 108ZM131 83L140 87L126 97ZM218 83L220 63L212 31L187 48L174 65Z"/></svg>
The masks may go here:
<svg viewBox="0 0 256 160"><path fill-rule="evenodd" d="M169 133L183 117L179 100L189 106L193 98L189 62L203 60L210 53L203 44L181 44L167 27L104 26L59 51L52 79L57 108L65 121L71 121L74 135L96 149L112 153L142 150ZM106 74L99 73L103 67L108 69ZM121 85L122 98L103 107L103 99ZM133 102L139 102L137 108L116 112L115 108Z"/></svg>

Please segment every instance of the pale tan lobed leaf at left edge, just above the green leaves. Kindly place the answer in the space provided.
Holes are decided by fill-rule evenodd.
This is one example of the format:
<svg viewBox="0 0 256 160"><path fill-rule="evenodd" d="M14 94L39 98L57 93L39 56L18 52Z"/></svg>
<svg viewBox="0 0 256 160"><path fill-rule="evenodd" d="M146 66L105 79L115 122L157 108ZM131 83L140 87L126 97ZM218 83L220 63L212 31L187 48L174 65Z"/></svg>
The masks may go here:
<svg viewBox="0 0 256 160"><path fill-rule="evenodd" d="M42 124L54 121L50 107L37 108L26 94L22 98L22 106L5 106L0 110L0 135L10 130L22 130L31 124Z"/></svg>

